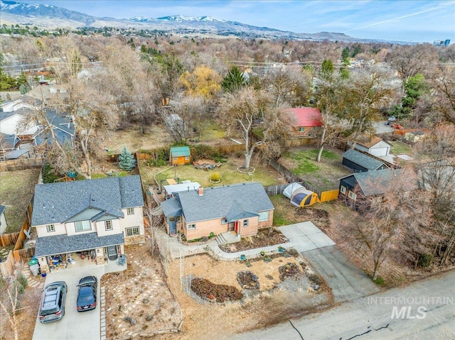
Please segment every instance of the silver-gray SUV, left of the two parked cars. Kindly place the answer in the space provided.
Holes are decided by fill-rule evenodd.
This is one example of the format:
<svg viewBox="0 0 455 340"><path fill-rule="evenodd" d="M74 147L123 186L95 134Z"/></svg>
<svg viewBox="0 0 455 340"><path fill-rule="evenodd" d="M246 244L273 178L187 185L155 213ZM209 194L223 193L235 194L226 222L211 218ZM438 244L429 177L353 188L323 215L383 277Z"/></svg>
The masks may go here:
<svg viewBox="0 0 455 340"><path fill-rule="evenodd" d="M67 285L64 281L50 283L44 287L39 312L41 323L58 321L65 315L67 292Z"/></svg>

